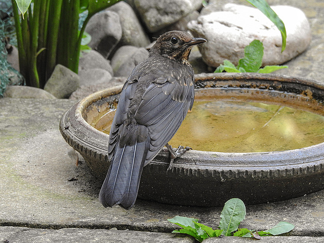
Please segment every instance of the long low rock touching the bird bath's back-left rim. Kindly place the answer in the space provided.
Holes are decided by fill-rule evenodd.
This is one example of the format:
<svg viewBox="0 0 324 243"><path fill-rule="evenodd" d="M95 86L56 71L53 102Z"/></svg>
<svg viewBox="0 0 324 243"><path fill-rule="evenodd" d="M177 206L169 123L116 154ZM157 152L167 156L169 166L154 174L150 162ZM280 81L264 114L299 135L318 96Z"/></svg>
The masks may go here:
<svg viewBox="0 0 324 243"><path fill-rule="evenodd" d="M118 85L124 85L127 77L112 77L109 82L107 83L101 83L97 85L88 85L88 86L80 86L76 91L74 91L69 99L72 100L82 100L83 98L91 95L92 93L95 93L100 90L104 90L107 88L111 88Z"/></svg>

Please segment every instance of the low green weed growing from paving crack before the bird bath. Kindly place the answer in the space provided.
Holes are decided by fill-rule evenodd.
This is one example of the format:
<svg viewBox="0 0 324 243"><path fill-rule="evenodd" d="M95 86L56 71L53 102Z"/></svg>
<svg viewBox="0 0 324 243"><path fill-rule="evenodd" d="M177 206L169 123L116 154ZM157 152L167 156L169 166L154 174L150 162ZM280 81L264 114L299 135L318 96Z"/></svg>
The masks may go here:
<svg viewBox="0 0 324 243"><path fill-rule="evenodd" d="M197 219L175 216L168 219L169 222L177 224L182 229L174 230L172 233L189 234L199 242L209 237L240 236L261 239L261 236L279 235L291 231L295 226L287 222L279 222L277 225L265 231L249 230L247 228L238 228L240 222L245 219L246 207L242 200L238 198L229 199L222 210L219 229L212 229L204 224L198 223Z"/></svg>

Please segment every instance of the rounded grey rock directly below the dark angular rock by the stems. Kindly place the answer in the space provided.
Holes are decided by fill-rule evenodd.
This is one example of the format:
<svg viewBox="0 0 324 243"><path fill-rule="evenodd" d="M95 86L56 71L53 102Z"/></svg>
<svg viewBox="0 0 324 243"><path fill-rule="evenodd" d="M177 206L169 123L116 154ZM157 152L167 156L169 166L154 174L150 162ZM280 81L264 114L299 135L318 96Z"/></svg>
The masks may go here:
<svg viewBox="0 0 324 243"><path fill-rule="evenodd" d="M101 68L113 75L113 70L110 62L105 59L99 52L95 50L82 52L79 59L78 72L92 68Z"/></svg>

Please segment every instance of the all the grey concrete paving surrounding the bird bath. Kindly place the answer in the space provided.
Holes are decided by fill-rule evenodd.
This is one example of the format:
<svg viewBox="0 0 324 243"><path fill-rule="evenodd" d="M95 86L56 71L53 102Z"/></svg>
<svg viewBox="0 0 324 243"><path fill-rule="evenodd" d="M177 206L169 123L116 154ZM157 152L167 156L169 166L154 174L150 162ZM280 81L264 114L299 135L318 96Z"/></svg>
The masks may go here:
<svg viewBox="0 0 324 243"><path fill-rule="evenodd" d="M269 1L270 4L280 1ZM323 80L324 3L288 1L309 18L309 49L287 63L281 74ZM198 218L216 228L221 208L181 207L138 199L133 209L105 209L98 201L100 184L59 132L59 119L70 100L0 99L0 242L194 242L172 234L176 215ZM260 195L262 196L262 195ZM247 206L240 225L265 230L279 221L295 228L263 242L324 242L324 190L270 204ZM237 237L204 242L246 242Z"/></svg>

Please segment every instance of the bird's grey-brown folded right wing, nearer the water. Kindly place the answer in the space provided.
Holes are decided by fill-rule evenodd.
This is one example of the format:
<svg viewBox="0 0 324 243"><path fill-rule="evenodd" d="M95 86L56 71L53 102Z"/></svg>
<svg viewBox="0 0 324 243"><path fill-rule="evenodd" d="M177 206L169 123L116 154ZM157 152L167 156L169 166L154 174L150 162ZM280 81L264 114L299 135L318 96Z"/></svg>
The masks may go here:
<svg viewBox="0 0 324 243"><path fill-rule="evenodd" d="M193 74L181 81L170 79L151 83L135 113L137 123L148 128L151 138L145 165L171 140L193 104Z"/></svg>

